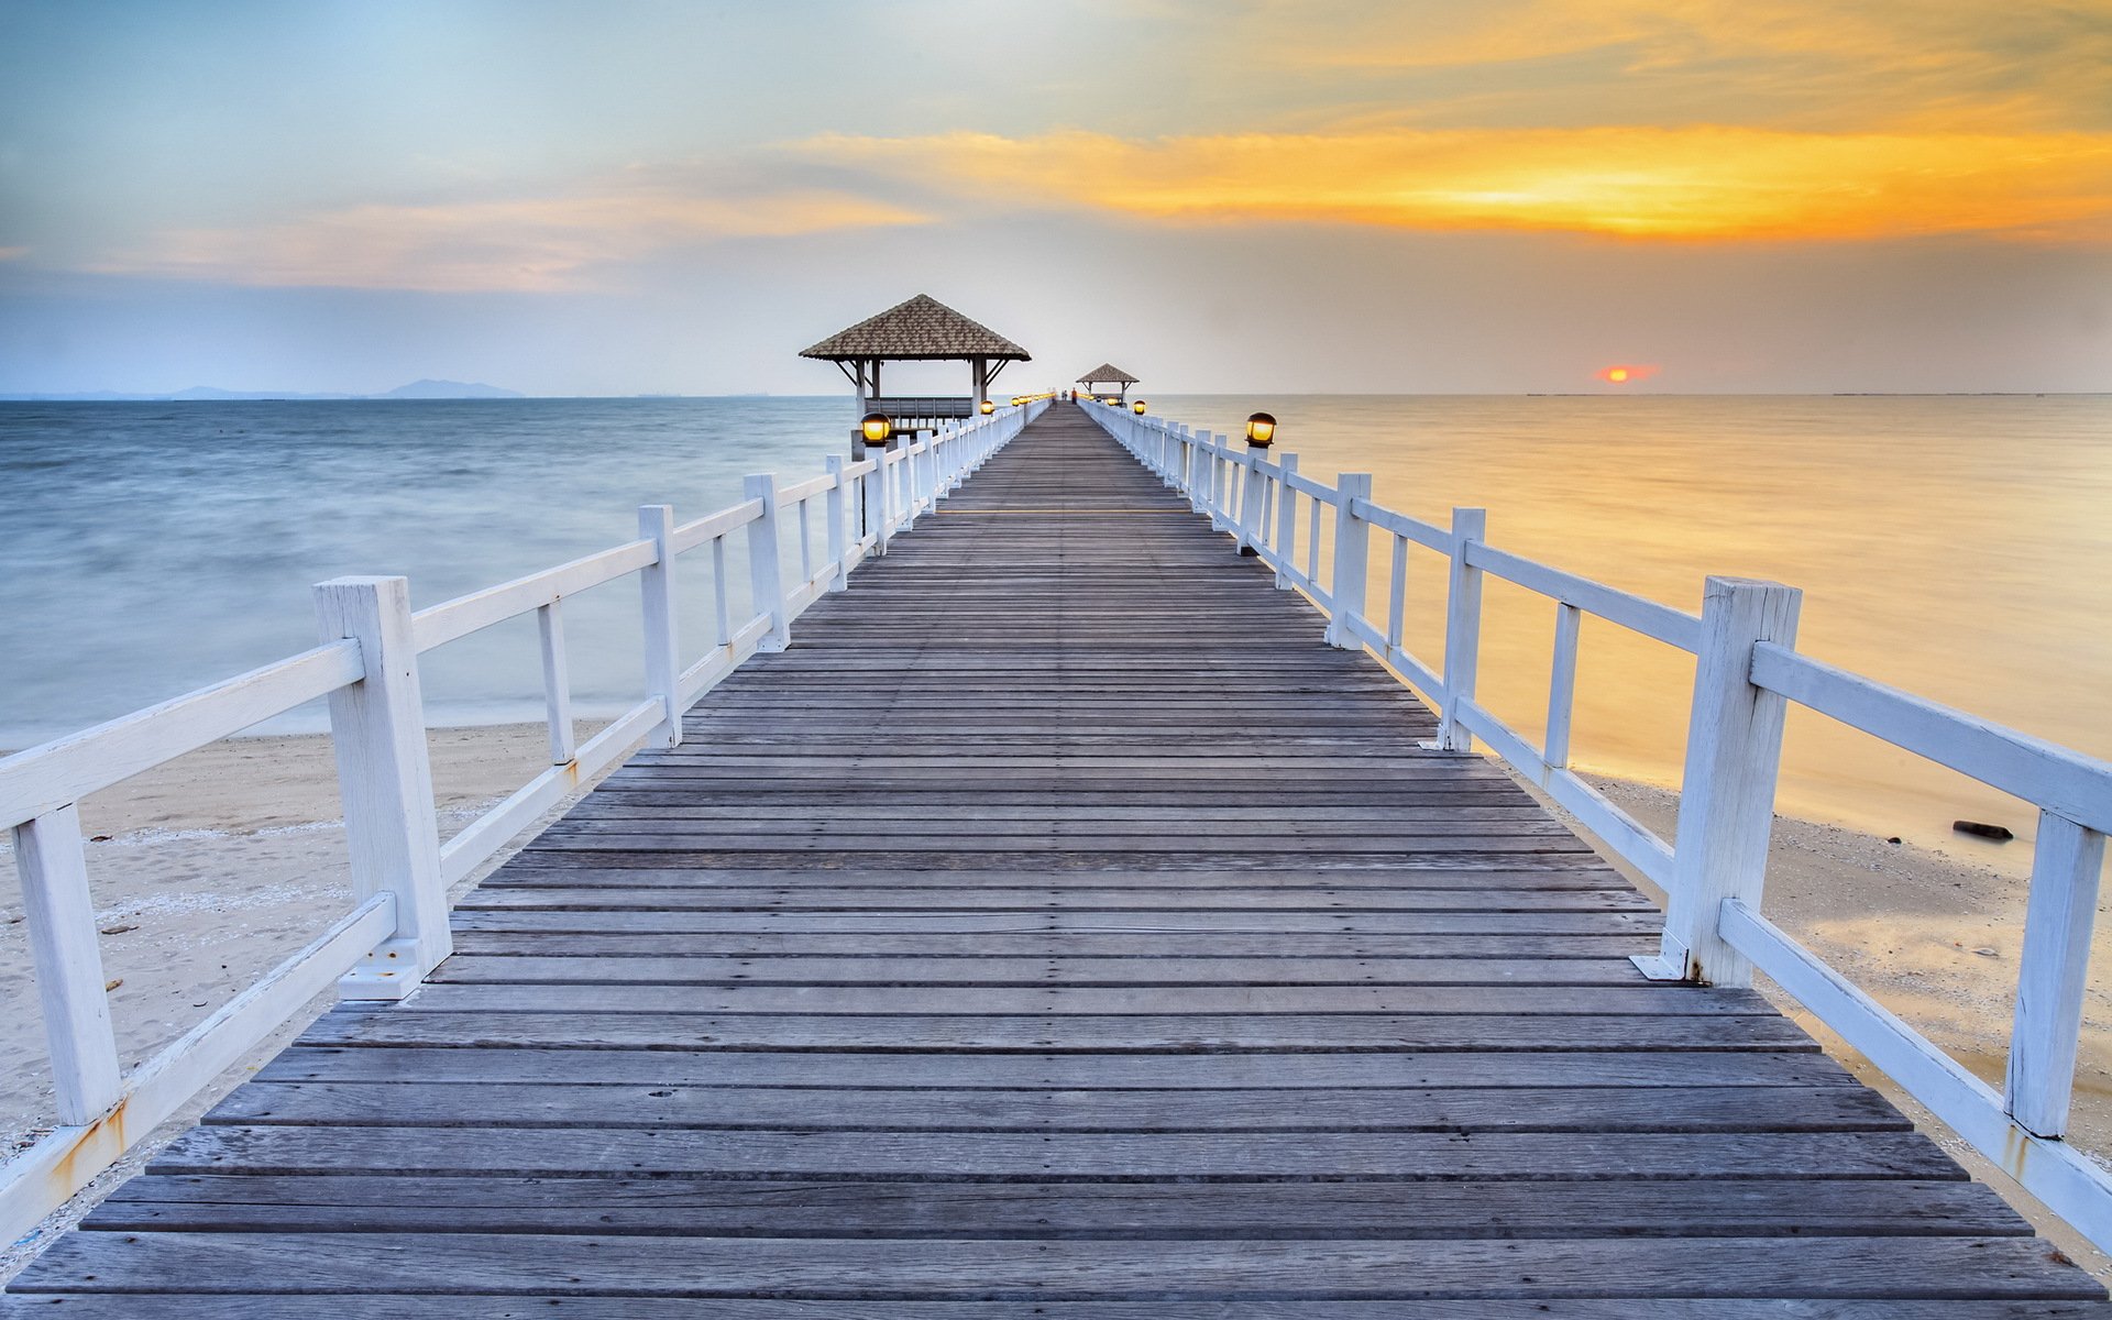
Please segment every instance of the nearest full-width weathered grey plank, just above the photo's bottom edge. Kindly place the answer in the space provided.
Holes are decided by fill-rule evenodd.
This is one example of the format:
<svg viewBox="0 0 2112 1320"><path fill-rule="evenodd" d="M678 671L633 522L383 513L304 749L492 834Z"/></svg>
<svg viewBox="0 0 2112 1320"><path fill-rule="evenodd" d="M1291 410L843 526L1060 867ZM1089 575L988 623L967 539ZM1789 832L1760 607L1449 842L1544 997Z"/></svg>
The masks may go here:
<svg viewBox="0 0 2112 1320"><path fill-rule="evenodd" d="M74 1233L38 1288L855 1299L2093 1299L2032 1238L1514 1242L1007 1242L530 1233Z"/></svg>

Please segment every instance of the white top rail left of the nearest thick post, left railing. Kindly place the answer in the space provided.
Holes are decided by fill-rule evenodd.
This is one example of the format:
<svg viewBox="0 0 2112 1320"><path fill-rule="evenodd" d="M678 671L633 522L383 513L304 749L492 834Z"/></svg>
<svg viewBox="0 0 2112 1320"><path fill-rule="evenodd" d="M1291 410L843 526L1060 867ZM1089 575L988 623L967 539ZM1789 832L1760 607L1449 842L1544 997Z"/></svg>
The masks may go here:
<svg viewBox="0 0 2112 1320"><path fill-rule="evenodd" d="M363 672L357 644L327 642L275 665L0 758L0 826L19 826L55 807L78 803L139 771L359 682Z"/></svg>

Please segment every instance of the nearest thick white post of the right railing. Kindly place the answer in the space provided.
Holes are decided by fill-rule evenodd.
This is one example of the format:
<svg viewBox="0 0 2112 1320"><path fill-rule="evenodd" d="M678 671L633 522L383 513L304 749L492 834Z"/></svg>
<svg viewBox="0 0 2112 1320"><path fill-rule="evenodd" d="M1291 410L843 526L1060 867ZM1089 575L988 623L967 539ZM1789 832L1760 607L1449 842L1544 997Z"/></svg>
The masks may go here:
<svg viewBox="0 0 2112 1320"><path fill-rule="evenodd" d="M1711 577L1702 591L1664 938L1658 957L1635 959L1652 980L1753 984L1753 963L1719 934L1723 900L1759 912L1783 762L1787 701L1753 684L1753 646L1795 646L1802 598L1795 587L1732 577Z"/></svg>

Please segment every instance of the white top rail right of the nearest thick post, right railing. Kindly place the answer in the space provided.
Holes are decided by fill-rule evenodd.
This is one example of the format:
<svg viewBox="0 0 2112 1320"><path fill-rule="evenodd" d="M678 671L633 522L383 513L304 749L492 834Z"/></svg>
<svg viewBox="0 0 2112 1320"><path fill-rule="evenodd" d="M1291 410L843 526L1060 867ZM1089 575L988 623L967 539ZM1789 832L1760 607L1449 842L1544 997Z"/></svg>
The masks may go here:
<svg viewBox="0 0 2112 1320"><path fill-rule="evenodd" d="M1924 701L1789 646L1755 648L1753 682L2078 826L2112 834L2112 762Z"/></svg>

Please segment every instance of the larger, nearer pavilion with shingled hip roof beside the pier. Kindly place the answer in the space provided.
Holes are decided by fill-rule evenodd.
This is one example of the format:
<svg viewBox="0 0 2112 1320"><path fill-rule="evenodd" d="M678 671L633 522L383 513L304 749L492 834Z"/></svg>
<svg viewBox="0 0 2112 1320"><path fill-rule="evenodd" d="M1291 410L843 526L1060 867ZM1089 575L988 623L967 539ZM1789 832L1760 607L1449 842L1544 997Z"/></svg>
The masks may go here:
<svg viewBox="0 0 2112 1320"><path fill-rule="evenodd" d="M898 431L917 431L974 416L991 397L991 382L1007 363L1033 361L1026 348L925 294L876 317L866 317L849 329L838 329L800 357L836 363L845 380L857 389L860 416L885 412ZM883 395L883 361L965 361L974 393L959 399Z"/></svg>

